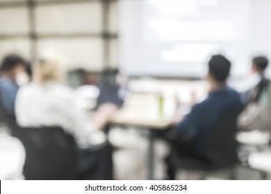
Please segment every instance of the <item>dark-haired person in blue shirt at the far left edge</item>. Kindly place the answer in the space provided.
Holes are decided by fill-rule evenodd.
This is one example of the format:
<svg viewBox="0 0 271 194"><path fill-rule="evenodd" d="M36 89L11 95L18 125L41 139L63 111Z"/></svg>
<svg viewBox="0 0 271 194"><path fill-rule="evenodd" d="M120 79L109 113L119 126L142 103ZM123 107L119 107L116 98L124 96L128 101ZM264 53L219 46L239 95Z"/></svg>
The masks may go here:
<svg viewBox="0 0 271 194"><path fill-rule="evenodd" d="M7 55L1 63L0 104L3 111L10 116L15 116L15 98L19 89L17 78L24 69L24 59L16 54Z"/></svg>

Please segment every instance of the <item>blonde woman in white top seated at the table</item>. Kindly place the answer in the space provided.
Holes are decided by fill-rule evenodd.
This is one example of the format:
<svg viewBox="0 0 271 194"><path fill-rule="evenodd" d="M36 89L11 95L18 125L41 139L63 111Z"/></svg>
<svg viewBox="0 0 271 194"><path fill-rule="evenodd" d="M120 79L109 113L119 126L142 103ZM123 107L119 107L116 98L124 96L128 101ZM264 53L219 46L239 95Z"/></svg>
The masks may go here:
<svg viewBox="0 0 271 194"><path fill-rule="evenodd" d="M76 107L72 89L62 82L63 73L58 62L50 59L39 60L33 66L33 81L21 87L17 93L15 102L17 123L21 127L62 127L67 134L74 136L80 148L79 153L85 155L82 150L88 150L90 145L99 147L106 142L106 136L101 129L115 111L115 106L110 104L101 106L91 120L85 112ZM106 157L103 153L98 155L104 158L99 167L112 171L111 152L105 153ZM112 179L112 177L99 178Z"/></svg>

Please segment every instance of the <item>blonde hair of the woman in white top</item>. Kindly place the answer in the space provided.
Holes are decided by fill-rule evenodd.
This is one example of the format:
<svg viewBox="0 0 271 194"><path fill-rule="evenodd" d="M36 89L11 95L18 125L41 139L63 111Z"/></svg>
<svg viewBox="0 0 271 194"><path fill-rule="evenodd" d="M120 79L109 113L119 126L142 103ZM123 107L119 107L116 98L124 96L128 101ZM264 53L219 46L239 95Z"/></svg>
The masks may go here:
<svg viewBox="0 0 271 194"><path fill-rule="evenodd" d="M63 82L64 72L55 60L38 60L33 66L33 80L43 85L47 81Z"/></svg>

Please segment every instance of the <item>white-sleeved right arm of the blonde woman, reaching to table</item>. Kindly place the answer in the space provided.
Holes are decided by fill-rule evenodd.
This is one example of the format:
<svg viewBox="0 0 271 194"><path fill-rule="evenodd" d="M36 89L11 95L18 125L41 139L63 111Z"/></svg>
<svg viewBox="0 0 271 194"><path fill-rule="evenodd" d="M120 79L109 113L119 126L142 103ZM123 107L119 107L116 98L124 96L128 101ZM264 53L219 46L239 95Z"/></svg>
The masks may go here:
<svg viewBox="0 0 271 194"><path fill-rule="evenodd" d="M56 100L54 108L65 119L67 127L63 130L72 134L79 145L97 145L106 141L104 132L99 129L109 121L114 110L111 105L103 106L91 119L87 112L76 107L72 91L63 89L62 96Z"/></svg>

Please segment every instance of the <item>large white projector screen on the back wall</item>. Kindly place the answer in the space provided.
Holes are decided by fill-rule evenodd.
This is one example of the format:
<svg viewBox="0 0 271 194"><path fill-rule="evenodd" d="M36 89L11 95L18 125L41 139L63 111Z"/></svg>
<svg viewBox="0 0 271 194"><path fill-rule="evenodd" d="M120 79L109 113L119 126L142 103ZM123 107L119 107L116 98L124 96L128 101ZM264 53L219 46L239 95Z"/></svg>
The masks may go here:
<svg viewBox="0 0 271 194"><path fill-rule="evenodd" d="M252 17L266 6L255 3L266 2L120 0L122 71L129 76L202 78L208 58L222 53L233 63L231 73L243 76L253 53L266 53L266 46L252 46L258 41L254 37L261 36Z"/></svg>

